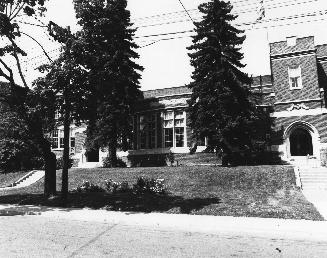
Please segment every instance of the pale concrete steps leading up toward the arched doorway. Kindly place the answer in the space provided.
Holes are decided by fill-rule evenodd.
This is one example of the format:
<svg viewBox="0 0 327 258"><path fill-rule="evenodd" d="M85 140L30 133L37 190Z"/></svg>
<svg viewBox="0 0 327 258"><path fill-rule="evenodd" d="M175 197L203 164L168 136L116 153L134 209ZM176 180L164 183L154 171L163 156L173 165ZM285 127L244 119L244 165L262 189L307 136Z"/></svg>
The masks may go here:
<svg viewBox="0 0 327 258"><path fill-rule="evenodd" d="M303 190L327 190L327 168L299 167Z"/></svg>

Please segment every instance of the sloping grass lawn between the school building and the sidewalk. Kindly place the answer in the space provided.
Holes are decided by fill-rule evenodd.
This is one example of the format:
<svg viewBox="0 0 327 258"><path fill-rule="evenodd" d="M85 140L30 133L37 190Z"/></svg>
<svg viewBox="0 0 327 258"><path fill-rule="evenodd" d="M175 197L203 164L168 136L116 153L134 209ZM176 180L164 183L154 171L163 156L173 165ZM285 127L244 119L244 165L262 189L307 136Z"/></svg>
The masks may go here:
<svg viewBox="0 0 327 258"><path fill-rule="evenodd" d="M163 178L167 196L131 194L76 194L69 196L70 207L108 210L187 213L216 216L272 217L323 220L295 186L288 166L218 166L71 169L70 190L83 180L104 187L104 180L128 181L140 176ZM58 171L58 189L60 172ZM0 203L59 205L42 198L43 182L18 190L0 191Z"/></svg>

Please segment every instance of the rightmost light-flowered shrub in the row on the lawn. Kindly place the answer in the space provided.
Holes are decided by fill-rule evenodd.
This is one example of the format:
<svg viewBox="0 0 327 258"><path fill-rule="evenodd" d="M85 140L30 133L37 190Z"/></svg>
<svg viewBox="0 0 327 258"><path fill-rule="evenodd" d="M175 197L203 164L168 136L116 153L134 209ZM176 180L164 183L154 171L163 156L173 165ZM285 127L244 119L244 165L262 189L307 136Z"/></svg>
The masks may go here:
<svg viewBox="0 0 327 258"><path fill-rule="evenodd" d="M133 191L136 194L166 194L166 186L164 179L153 179L139 177L136 184L133 186Z"/></svg>

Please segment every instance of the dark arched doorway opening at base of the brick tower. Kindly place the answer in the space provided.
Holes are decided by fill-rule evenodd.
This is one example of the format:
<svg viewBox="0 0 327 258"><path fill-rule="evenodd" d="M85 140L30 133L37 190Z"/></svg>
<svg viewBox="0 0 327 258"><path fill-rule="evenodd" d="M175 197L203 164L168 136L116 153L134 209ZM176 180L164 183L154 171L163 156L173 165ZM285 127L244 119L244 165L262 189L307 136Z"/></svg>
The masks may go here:
<svg viewBox="0 0 327 258"><path fill-rule="evenodd" d="M291 156L313 155L312 137L304 128L296 128L290 135Z"/></svg>

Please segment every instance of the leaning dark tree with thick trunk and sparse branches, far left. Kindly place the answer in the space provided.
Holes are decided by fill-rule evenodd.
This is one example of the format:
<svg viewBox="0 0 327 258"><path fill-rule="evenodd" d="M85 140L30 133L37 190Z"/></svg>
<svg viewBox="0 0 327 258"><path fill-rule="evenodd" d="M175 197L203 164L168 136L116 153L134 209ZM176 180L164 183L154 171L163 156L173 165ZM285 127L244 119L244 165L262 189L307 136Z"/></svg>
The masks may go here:
<svg viewBox="0 0 327 258"><path fill-rule="evenodd" d="M17 44L17 38L22 36L20 22L25 18L40 15L45 11L45 0L0 0L0 37L8 44L0 48L0 77L9 82L10 94L1 96L12 111L16 112L28 130L34 144L41 150L45 161L44 193L50 196L56 193L56 170L55 156L51 152L50 142L45 136L45 125L51 122L51 116L43 116L49 111L43 108L42 103L51 101L51 92L36 92L31 90L22 72L20 56L26 55L25 51ZM19 17L20 22L16 19ZM4 56L12 56L16 61L19 77L25 87L25 94L20 94L20 87L14 79L13 67L10 67L3 59ZM46 96L46 98L43 98ZM49 114L47 114L49 115Z"/></svg>

